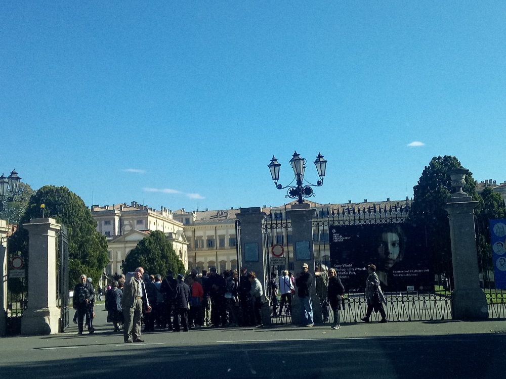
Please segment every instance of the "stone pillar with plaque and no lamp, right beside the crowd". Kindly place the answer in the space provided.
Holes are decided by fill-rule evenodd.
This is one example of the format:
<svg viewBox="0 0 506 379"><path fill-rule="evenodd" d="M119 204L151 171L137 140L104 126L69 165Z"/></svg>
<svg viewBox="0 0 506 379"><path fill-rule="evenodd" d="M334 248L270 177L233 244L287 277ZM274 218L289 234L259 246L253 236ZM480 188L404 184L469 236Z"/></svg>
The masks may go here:
<svg viewBox="0 0 506 379"><path fill-rule="evenodd" d="M264 295L268 295L269 272L267 272L268 254L264 249L264 235L262 224L265 223L266 213L260 207L241 208L237 218L241 223L241 256L239 257L241 267L249 271L255 271L257 279L262 283ZM239 267L239 269L241 268ZM262 307L262 322L265 325L271 324L269 305Z"/></svg>

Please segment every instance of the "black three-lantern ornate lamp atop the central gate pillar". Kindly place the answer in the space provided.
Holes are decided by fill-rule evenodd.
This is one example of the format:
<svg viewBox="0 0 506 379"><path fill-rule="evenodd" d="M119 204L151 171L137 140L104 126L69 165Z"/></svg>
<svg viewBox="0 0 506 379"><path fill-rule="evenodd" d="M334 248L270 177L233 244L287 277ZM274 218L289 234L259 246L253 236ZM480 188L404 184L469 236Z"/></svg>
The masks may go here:
<svg viewBox="0 0 506 379"><path fill-rule="evenodd" d="M277 189L288 188L285 198L297 199L298 203L302 204L304 202L304 199L315 196L315 194L313 194L313 188L311 187L319 187L323 184L323 179L325 178L325 169L327 167L327 161L323 159L323 155L321 155L321 153L318 154L316 160L314 161L316 170L318 171L318 176L320 177L320 180L318 180L316 184L311 184L304 178L304 172L306 170L306 160L302 158L299 154L297 154L297 152L293 153L293 156L290 159L290 164L291 168L293 169L293 173L295 175L293 180L296 181L297 185L291 185L291 183L293 183L293 180L291 181L290 184L284 187L281 184L278 184L279 168L281 167L281 163L279 163L274 156L271 159L271 163L267 167L269 167L269 170L271 171L272 180L274 181L276 188ZM307 184L304 184L304 181L306 181Z"/></svg>

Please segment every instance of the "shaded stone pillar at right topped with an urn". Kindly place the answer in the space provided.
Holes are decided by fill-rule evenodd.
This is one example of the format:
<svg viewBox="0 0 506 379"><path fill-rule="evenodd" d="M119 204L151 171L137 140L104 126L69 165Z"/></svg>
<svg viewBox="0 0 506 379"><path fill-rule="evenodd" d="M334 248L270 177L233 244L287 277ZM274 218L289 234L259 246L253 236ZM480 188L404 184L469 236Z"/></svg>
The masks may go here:
<svg viewBox="0 0 506 379"><path fill-rule="evenodd" d="M453 261L453 318L488 318L485 293L480 288L478 253L476 251L476 233L474 208L477 201L462 192L467 169L449 170L452 185L459 188L445 210L450 219L451 256Z"/></svg>

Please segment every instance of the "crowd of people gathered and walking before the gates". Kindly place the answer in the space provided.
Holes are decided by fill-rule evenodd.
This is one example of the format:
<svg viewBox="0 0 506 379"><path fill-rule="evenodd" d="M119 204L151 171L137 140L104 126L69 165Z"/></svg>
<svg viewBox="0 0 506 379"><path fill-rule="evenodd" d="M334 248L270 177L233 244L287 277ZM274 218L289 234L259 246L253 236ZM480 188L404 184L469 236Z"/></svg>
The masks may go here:
<svg viewBox="0 0 506 379"><path fill-rule="evenodd" d="M368 322L372 310L379 311L386 322L382 303L385 297L375 273L375 266L368 266L366 280L367 312L362 321ZM340 310L344 309L345 288L334 268L324 265L315 267L315 279L304 263L301 271L293 276L287 270L278 277L272 272L269 282L269 297L272 299L272 315L278 317L292 314L292 297L297 293L301 303L303 326L314 325L311 292L316 282L316 293L322 303L323 321L329 322L329 309L332 312L332 329L339 329ZM102 290L100 289L100 294ZM98 293L98 290L97 290ZM165 277L149 275L139 267L135 272L115 275L111 285L105 290L107 322L114 331L123 331L125 343L144 342L141 340L141 322L144 331L155 328L172 331L189 331L191 328L256 326L262 327L262 307L267 302L262 283L254 271L246 267L225 270L218 274L216 267L209 271L196 269L184 277L168 270ZM279 299L278 299L279 297ZM279 301L280 300L280 301ZM82 334L83 320L89 333L93 333L95 291L91 278L80 276L74 288L73 306L76 310L74 322L78 334Z"/></svg>

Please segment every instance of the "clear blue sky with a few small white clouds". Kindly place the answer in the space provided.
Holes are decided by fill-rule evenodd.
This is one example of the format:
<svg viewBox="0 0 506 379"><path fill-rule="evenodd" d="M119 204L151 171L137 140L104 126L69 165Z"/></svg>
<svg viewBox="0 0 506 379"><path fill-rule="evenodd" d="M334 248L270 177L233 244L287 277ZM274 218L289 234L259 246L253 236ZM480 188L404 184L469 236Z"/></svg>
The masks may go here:
<svg viewBox="0 0 506 379"><path fill-rule="evenodd" d="M87 205L412 197L454 155L506 180L504 2L23 2L0 12L0 171ZM421 146L410 146L413 142ZM15 144L15 148L9 148Z"/></svg>

